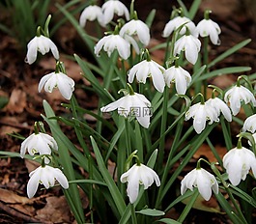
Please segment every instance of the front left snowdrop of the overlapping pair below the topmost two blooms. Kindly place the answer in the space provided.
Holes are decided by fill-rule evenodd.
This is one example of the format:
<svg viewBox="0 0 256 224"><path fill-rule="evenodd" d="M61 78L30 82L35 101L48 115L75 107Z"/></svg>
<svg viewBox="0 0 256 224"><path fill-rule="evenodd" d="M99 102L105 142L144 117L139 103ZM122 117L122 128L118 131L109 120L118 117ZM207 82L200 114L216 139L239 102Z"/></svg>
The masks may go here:
<svg viewBox="0 0 256 224"><path fill-rule="evenodd" d="M130 55L129 42L122 38L120 35L108 35L100 39L100 41L95 46L95 54L100 56L100 50L106 51L108 57L117 49L121 58L127 60Z"/></svg>

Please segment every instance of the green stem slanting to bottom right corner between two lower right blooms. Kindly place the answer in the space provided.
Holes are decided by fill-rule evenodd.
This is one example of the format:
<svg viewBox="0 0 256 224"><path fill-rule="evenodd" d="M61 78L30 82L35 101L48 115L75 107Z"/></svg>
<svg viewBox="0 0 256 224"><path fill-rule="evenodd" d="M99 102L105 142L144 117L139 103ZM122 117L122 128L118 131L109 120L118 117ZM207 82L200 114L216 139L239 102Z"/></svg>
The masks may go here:
<svg viewBox="0 0 256 224"><path fill-rule="evenodd" d="M212 163L211 164L211 168L214 172L214 174L219 178L220 182L222 182L226 192L228 193L229 195L229 198L233 204L233 206L235 207L235 209L237 210L238 212L238 215L239 217L241 218L241 220L243 221L243 223L247 223L246 219L244 218L243 214L242 214L242 210L240 209L240 207L238 206L231 190L229 189L229 184L227 182L224 181L224 179L222 178L221 174L219 173L218 169L215 167L215 165Z"/></svg>

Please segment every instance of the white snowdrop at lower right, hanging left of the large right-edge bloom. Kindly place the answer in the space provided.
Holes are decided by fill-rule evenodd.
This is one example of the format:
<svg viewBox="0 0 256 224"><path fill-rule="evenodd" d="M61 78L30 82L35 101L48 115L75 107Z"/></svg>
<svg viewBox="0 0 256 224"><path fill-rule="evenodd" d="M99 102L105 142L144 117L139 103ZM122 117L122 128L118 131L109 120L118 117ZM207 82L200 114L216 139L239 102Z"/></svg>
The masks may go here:
<svg viewBox="0 0 256 224"><path fill-rule="evenodd" d="M212 196L212 189L215 194L218 193L218 184L213 174L209 173L203 168L193 169L182 181L181 193L185 193L187 189L193 190L197 187L201 196L209 201Z"/></svg>

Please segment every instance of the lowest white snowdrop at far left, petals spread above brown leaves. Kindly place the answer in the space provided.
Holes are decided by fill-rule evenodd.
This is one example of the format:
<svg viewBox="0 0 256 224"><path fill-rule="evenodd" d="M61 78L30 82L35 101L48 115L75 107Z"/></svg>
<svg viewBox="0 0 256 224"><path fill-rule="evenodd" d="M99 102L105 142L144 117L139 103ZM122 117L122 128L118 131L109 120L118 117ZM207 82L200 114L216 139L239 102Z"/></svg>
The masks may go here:
<svg viewBox="0 0 256 224"><path fill-rule="evenodd" d="M43 184L46 189L53 186L55 181L60 182L63 188L69 188L69 182L62 171L51 166L40 166L29 174L29 181L27 184L27 194L32 198L38 189L39 183Z"/></svg>

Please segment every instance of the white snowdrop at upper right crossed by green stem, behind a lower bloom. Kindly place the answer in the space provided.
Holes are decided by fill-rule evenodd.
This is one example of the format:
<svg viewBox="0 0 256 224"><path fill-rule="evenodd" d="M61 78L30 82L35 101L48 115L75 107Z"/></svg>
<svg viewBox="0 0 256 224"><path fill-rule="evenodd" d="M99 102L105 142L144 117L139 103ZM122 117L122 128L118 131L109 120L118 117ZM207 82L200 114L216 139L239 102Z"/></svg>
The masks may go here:
<svg viewBox="0 0 256 224"><path fill-rule="evenodd" d="M184 24L185 26L181 29L180 34L184 35L186 29L188 29L193 36L197 37L197 34L195 32L195 24L185 16L177 16L171 19L169 22L167 22L163 29L162 37L169 37L175 30L177 30L181 25Z"/></svg>

